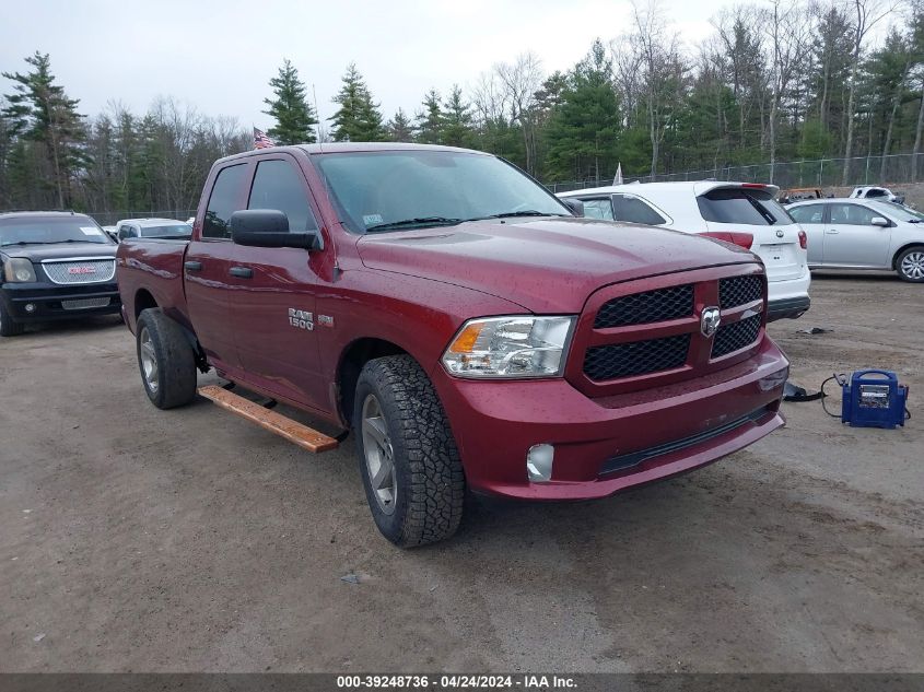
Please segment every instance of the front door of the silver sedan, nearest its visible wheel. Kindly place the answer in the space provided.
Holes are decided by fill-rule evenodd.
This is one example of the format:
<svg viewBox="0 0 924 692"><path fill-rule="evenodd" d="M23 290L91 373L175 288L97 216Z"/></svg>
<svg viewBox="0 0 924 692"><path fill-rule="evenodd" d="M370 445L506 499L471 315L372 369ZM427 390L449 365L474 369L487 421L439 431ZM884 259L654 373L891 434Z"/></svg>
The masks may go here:
<svg viewBox="0 0 924 692"><path fill-rule="evenodd" d="M830 206L824 227L824 263L839 267L889 267L892 230L874 226L882 216L869 207L854 202Z"/></svg>

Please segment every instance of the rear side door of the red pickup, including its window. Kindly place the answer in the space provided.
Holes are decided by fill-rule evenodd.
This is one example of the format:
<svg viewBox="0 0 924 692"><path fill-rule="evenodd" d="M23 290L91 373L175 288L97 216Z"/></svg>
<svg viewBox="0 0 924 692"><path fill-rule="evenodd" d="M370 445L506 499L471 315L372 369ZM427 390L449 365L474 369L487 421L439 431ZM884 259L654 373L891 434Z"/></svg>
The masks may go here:
<svg viewBox="0 0 924 692"><path fill-rule="evenodd" d="M230 315L236 288L231 275L234 245L231 214L247 204L247 162L220 168L212 184L202 227L192 234L184 262L189 318L209 360L219 370L239 366Z"/></svg>

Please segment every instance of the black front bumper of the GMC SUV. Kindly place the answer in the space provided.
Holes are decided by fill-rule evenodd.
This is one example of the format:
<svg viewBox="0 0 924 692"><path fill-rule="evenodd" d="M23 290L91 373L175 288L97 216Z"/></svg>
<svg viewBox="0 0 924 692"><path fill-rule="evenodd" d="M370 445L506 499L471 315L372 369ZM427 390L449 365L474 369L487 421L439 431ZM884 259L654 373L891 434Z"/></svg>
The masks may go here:
<svg viewBox="0 0 924 692"><path fill-rule="evenodd" d="M115 281L78 285L49 283L4 283L0 301L16 322L43 322L55 319L78 319L89 315L113 315L121 308L119 288ZM69 302L70 307L66 307ZM79 307L80 302L93 307ZM63 303L62 303L63 302ZM33 309L27 310L26 306Z"/></svg>

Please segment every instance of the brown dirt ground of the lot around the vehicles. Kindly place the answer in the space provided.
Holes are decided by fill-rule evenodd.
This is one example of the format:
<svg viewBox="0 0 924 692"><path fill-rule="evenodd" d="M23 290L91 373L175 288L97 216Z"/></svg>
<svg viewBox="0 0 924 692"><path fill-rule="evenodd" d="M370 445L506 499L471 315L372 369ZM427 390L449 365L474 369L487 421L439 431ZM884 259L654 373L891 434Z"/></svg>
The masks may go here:
<svg viewBox="0 0 924 692"><path fill-rule="evenodd" d="M924 286L811 293L770 327L793 380L898 371L903 430L787 403L695 473L482 501L416 551L377 533L351 442L312 457L204 400L155 410L112 319L2 339L0 670L922 671Z"/></svg>

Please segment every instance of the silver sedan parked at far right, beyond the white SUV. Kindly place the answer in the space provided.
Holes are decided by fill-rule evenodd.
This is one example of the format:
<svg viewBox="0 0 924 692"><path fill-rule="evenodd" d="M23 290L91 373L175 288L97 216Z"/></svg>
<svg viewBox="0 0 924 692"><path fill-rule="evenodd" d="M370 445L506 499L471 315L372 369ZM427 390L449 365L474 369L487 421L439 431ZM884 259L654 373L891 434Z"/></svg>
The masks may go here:
<svg viewBox="0 0 924 692"><path fill-rule="evenodd" d="M808 233L812 269L886 269L924 282L924 214L896 202L819 199L790 215Z"/></svg>

